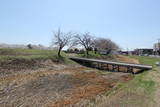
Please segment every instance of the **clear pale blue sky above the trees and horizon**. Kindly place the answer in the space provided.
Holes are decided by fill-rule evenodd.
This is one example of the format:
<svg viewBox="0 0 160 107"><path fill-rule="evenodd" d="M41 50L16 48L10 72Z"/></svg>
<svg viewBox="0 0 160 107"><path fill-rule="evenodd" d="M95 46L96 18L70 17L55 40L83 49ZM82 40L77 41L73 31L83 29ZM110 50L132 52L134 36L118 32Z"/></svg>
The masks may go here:
<svg viewBox="0 0 160 107"><path fill-rule="evenodd" d="M53 32L90 32L122 49L160 38L160 0L0 0L0 43L50 46Z"/></svg>

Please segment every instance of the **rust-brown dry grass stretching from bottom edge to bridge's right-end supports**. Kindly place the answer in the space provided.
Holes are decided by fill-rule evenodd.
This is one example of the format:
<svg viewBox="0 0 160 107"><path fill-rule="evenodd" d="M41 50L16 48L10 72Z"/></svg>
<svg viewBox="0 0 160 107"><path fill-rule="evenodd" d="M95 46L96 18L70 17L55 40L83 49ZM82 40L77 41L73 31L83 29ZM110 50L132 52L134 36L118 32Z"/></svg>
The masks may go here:
<svg viewBox="0 0 160 107"><path fill-rule="evenodd" d="M53 107L75 106L76 103L84 99L110 91L119 80L126 82L131 79L129 75L114 75L113 73L110 73L110 75L115 76L116 79L110 78L109 75L102 76L96 72L76 73L74 78L83 81L85 84L76 86L69 97L59 99L53 104Z"/></svg>

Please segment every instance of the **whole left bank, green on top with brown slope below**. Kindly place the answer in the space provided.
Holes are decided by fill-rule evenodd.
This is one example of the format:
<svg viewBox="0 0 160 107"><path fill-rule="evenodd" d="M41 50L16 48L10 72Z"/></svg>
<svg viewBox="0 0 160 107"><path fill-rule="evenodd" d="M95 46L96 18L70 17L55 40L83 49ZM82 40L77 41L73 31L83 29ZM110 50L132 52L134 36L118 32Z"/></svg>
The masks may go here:
<svg viewBox="0 0 160 107"><path fill-rule="evenodd" d="M59 68L58 64L72 64L66 54L57 56L54 50L36 49L0 49L0 76L16 74L17 71L26 72L44 68Z"/></svg>

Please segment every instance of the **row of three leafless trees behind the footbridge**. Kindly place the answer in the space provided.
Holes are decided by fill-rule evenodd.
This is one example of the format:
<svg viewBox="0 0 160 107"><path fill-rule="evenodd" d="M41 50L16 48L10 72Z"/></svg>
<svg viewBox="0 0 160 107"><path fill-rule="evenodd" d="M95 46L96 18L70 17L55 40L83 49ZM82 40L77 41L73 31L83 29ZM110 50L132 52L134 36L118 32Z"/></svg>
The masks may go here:
<svg viewBox="0 0 160 107"><path fill-rule="evenodd" d="M94 49L95 53L97 51L105 51L106 54L110 54L113 51L119 50L119 46L110 39L107 38L96 38L92 36L91 33L74 33L67 32L64 33L61 29L54 32L54 38L52 40L52 46L58 48L58 56L61 56L61 51L65 46L68 47L83 47L86 51L87 56L89 55L89 50Z"/></svg>

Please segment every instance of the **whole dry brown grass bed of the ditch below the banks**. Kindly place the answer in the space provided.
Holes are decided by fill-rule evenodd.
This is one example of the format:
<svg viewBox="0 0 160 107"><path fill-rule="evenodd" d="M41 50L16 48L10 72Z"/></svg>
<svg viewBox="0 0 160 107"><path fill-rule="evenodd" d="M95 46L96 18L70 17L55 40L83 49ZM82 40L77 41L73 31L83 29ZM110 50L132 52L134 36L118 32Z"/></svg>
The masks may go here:
<svg viewBox="0 0 160 107"><path fill-rule="evenodd" d="M79 102L109 92L119 82L131 79L130 74L107 73L79 65L50 61L43 65L40 69L11 69L12 73L1 75L0 106L79 106Z"/></svg>

